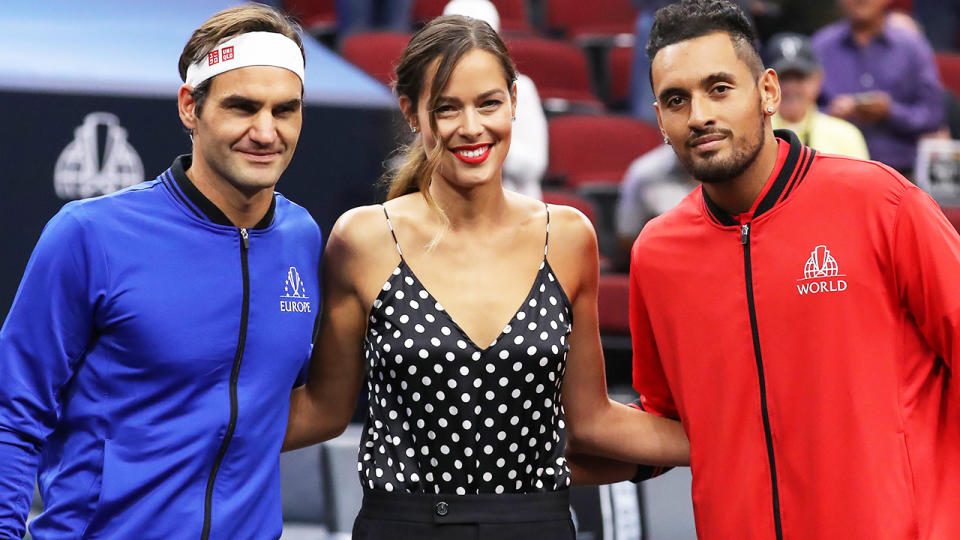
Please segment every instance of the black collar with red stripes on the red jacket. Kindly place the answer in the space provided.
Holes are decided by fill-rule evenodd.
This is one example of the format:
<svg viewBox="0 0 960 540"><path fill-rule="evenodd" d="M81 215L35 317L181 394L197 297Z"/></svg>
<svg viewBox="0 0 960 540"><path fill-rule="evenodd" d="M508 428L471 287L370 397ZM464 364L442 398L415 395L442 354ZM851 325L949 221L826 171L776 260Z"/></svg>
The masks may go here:
<svg viewBox="0 0 960 540"><path fill-rule="evenodd" d="M788 129L777 129L774 130L773 134L789 145L789 150L786 159L780 166L780 170L773 178L773 184L766 190L766 193L761 191L763 198L756 205L756 210L750 216L751 220L760 217L764 212L769 211L790 196L797 185L803 181L807 171L810 170L810 164L813 163L813 156L816 154L816 151L812 148L801 144L800 138ZM706 204L707 216L712 221L723 226L740 224L734 216L713 202L705 189L701 188L700 192L703 194L703 201Z"/></svg>

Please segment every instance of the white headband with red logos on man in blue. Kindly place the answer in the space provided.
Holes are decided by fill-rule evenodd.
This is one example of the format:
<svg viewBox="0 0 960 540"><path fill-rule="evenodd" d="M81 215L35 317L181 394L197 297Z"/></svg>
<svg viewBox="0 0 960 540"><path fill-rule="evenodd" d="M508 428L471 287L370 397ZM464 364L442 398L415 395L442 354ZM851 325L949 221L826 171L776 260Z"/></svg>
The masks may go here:
<svg viewBox="0 0 960 540"><path fill-rule="evenodd" d="M290 38L276 32L247 32L220 43L187 68L186 83L196 88L225 71L247 66L289 69L303 83L303 54Z"/></svg>

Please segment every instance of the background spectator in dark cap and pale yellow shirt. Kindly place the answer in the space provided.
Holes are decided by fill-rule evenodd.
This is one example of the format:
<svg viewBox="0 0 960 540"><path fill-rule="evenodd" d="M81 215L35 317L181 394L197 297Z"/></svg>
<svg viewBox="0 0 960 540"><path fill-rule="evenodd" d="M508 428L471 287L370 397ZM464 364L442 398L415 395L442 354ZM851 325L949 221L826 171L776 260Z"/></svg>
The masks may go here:
<svg viewBox="0 0 960 540"><path fill-rule="evenodd" d="M773 115L773 129L789 129L800 142L821 152L870 158L857 126L817 109L823 69L809 38L776 34L767 43L763 60L780 78L780 110Z"/></svg>

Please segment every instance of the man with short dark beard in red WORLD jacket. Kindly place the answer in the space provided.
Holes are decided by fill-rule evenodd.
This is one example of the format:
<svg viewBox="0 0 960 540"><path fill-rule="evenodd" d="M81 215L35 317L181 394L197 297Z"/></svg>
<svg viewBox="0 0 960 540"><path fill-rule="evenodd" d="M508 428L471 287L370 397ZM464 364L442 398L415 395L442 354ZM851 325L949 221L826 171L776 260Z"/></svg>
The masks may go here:
<svg viewBox="0 0 960 540"><path fill-rule="evenodd" d="M754 40L684 0L647 44L702 186L633 247L642 406L683 422L701 538L960 538L960 238L890 167L774 133Z"/></svg>

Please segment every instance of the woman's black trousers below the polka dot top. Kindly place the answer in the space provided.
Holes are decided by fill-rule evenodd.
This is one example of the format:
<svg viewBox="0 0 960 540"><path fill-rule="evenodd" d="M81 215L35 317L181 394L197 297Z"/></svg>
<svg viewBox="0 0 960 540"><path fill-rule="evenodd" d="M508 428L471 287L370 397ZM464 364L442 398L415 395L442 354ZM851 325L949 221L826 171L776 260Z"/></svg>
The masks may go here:
<svg viewBox="0 0 960 540"><path fill-rule="evenodd" d="M569 491L428 495L364 490L354 540L573 540Z"/></svg>

